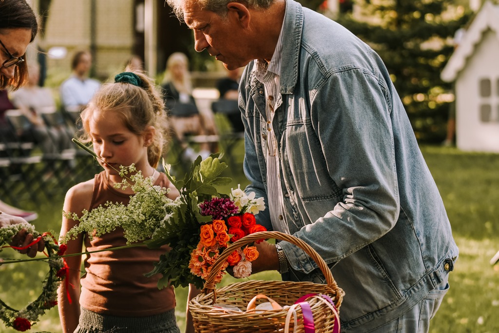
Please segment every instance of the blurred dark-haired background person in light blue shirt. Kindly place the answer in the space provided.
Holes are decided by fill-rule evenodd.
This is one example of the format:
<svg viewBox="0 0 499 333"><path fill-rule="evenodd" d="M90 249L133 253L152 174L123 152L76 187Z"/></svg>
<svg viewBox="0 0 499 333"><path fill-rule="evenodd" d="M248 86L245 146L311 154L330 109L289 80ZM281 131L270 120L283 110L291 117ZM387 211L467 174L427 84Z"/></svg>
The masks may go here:
<svg viewBox="0 0 499 333"><path fill-rule="evenodd" d="M61 103L66 111L81 111L99 89L100 82L88 77L91 67L90 52L76 52L71 61L73 73L60 86Z"/></svg>

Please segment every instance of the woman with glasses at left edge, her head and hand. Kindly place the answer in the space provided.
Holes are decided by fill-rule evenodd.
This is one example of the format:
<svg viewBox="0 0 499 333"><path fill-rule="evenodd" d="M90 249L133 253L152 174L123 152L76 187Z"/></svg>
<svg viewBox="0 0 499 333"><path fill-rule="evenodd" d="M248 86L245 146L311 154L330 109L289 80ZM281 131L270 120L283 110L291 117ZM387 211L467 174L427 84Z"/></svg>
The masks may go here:
<svg viewBox="0 0 499 333"><path fill-rule="evenodd" d="M36 16L25 0L0 0L0 89L15 90L27 80L26 48L37 31ZM23 222L20 217L0 211L0 227ZM11 244L23 247L32 240L33 236L26 235L23 229L13 237ZM19 252L34 257L36 251L43 251L43 242Z"/></svg>

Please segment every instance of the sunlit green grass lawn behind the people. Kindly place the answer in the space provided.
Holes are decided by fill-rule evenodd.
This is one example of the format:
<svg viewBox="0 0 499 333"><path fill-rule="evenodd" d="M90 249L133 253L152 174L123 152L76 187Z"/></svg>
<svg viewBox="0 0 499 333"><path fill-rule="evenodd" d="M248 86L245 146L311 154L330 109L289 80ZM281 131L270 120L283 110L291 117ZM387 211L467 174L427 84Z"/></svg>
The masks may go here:
<svg viewBox="0 0 499 333"><path fill-rule="evenodd" d="M460 248L460 257L450 276L451 289L431 323L430 332L499 332L499 269L489 264L499 250L499 155L463 153L455 148L433 146L424 146L422 151L440 189ZM229 175L233 177L235 186L238 183L246 185L244 176L239 172L241 166L235 169L238 170ZM228 190L221 191L227 193ZM43 204L39 205L27 200L15 205L38 212L39 218L33 222L38 231L52 230L57 234L64 193L65 189L61 189L59 195L44 198L40 200ZM9 249L0 256L20 258ZM45 265L19 263L1 266L0 298L17 308L36 298L46 273ZM276 280L279 276L266 272L252 278ZM235 281L228 277L222 284ZM183 331L187 292L179 288L176 294L177 319ZM41 331L61 332L56 309L48 311L30 332ZM5 329L0 324L0 332L17 331Z"/></svg>

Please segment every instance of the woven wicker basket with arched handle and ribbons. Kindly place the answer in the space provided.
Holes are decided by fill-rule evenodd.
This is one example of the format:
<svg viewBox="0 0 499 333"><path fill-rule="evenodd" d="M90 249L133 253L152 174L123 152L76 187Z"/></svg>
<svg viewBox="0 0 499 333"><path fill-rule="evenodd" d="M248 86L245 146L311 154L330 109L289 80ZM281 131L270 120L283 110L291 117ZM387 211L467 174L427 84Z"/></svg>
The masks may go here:
<svg viewBox="0 0 499 333"><path fill-rule="evenodd" d="M238 247L250 244L260 239L274 238L292 243L304 250L319 266L326 278L326 285L311 282L289 282L289 281L246 281L231 284L229 286L215 289L213 281L222 264L227 257ZM267 310L255 312L221 311L218 307L235 306L245 311L248 303L257 294L263 294L280 306L292 306L300 297L306 294L324 294L329 296L336 309L339 309L343 299L343 290L336 285L331 271L320 256L305 242L300 239L279 232L258 232L250 234L237 242L231 244L217 259L205 283L203 293L195 297L189 303L193 317L194 328L197 333L267 333L284 332L286 315L288 310ZM217 305L217 307L214 306ZM316 333L333 332L335 316L324 302L316 298L309 299L313 322ZM304 333L301 308L296 308L297 321L292 321L289 332ZM296 327L294 327L296 325ZM338 329L338 328L336 328ZM339 330L338 330L339 331Z"/></svg>

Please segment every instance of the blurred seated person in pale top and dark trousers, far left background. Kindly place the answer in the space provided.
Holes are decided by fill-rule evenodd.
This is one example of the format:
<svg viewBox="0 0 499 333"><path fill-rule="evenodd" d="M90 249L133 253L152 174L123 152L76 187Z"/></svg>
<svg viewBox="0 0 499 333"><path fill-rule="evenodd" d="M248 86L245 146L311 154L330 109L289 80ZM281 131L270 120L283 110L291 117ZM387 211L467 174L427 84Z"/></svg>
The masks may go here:
<svg viewBox="0 0 499 333"><path fill-rule="evenodd" d="M50 89L38 86L39 66L28 65L28 84L14 91L11 95L12 104L29 120L31 126L27 133L40 146L44 154L56 154L64 149L72 149L73 134L63 123L47 126L42 113L56 112L55 101Z"/></svg>

